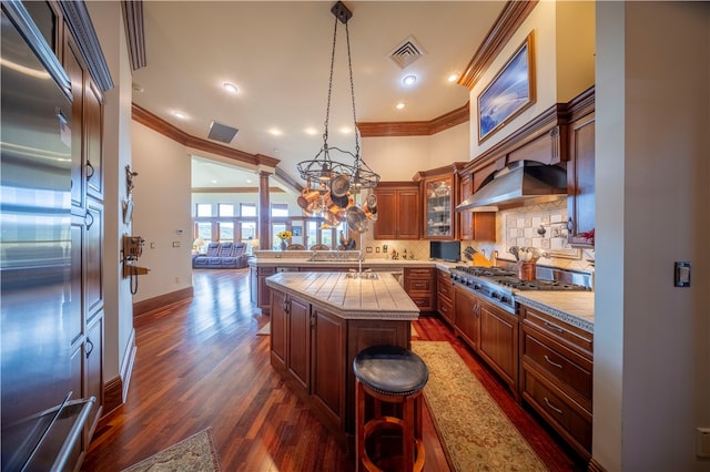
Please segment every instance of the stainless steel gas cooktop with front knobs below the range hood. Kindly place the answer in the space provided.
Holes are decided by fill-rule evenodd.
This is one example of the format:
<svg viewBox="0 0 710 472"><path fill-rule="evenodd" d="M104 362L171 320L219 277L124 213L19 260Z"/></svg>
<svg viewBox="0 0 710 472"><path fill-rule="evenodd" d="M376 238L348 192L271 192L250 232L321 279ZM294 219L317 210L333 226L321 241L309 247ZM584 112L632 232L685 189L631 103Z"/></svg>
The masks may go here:
<svg viewBox="0 0 710 472"><path fill-rule="evenodd" d="M469 289L486 301L517 314L515 296L526 290L589 290L586 277L572 277L570 273L545 269L549 279L520 280L516 273L505 267L456 266L450 269L452 280Z"/></svg>

